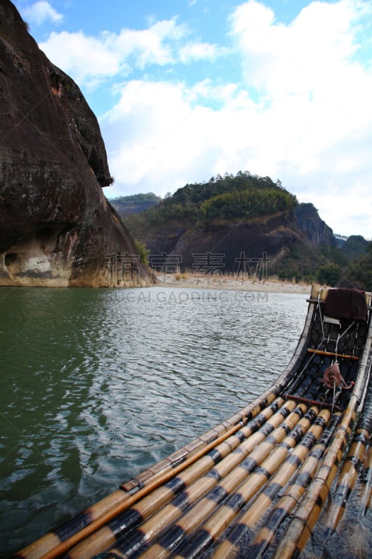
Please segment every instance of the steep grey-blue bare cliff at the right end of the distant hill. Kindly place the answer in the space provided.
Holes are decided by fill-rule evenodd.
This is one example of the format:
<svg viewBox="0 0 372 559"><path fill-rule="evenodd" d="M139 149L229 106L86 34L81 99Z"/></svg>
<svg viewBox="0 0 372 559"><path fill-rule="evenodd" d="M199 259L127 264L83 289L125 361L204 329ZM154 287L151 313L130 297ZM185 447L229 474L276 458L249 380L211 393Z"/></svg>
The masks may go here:
<svg viewBox="0 0 372 559"><path fill-rule="evenodd" d="M297 205L295 217L313 247L320 247L320 245L337 246L337 240L332 229L320 219L318 210L312 203Z"/></svg>

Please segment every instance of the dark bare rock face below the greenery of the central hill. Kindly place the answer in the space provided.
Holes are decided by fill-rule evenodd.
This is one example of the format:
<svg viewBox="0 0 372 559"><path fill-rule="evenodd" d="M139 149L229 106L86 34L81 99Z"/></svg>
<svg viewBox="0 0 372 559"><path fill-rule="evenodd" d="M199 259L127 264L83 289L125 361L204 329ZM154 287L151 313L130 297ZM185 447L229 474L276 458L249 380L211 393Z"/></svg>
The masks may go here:
<svg viewBox="0 0 372 559"><path fill-rule="evenodd" d="M190 227L171 223L168 226L149 226L146 231L142 231L140 240L151 253L181 257L181 268L188 270L197 269L200 261L204 270L210 264L211 268L232 273L239 270L244 262L244 266L248 263L254 272L255 263L262 262L265 255L269 262L267 270L269 273L276 273L278 264L294 246L299 247L302 263L304 254L310 254L314 259L315 253L292 212L281 212L249 221L218 220ZM222 266L218 266L219 263ZM287 267L290 269L289 264ZM306 266L303 267L304 270L307 269Z"/></svg>

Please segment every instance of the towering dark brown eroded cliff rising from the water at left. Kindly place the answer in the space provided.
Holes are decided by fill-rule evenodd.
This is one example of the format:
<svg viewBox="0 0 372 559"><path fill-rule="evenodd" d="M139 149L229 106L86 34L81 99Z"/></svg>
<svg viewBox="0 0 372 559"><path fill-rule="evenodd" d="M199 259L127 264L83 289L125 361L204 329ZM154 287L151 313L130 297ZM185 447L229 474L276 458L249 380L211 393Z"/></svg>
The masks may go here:
<svg viewBox="0 0 372 559"><path fill-rule="evenodd" d="M103 195L111 182L80 89L1 0L0 285L106 285L106 255L137 252Z"/></svg>

